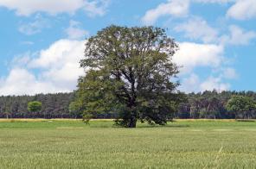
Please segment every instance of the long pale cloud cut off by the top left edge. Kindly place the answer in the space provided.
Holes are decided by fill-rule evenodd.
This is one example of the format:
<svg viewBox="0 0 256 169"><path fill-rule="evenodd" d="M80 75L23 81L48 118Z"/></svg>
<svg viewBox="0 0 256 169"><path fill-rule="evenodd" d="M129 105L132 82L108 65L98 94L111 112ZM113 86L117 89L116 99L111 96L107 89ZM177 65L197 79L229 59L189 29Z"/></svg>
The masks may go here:
<svg viewBox="0 0 256 169"><path fill-rule="evenodd" d="M74 14L78 9L84 9L89 16L102 16L107 5L108 0L0 0L0 6L15 10L18 16L30 16L37 12Z"/></svg>

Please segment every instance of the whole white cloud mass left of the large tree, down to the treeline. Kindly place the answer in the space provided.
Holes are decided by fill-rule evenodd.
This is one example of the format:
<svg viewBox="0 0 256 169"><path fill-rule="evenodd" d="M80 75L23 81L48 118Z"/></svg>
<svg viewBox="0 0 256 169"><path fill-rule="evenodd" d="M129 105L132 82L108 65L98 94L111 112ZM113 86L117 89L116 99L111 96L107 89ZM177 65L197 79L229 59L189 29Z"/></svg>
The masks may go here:
<svg viewBox="0 0 256 169"><path fill-rule="evenodd" d="M47 49L14 59L7 77L1 78L1 95L74 91L77 79L84 73L79 64L84 57L84 44L85 41L55 41Z"/></svg>

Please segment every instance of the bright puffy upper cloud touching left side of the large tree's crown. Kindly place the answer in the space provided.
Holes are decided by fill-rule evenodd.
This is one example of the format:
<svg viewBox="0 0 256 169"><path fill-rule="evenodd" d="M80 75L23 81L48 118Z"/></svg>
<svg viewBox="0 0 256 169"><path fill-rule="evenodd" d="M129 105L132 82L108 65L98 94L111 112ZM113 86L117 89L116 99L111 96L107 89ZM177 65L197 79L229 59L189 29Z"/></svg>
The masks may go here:
<svg viewBox="0 0 256 169"><path fill-rule="evenodd" d="M80 59L84 57L85 41L60 40L48 49L42 50L39 57L32 59L30 68L42 68L41 76L56 86L75 88L77 79L83 73Z"/></svg>

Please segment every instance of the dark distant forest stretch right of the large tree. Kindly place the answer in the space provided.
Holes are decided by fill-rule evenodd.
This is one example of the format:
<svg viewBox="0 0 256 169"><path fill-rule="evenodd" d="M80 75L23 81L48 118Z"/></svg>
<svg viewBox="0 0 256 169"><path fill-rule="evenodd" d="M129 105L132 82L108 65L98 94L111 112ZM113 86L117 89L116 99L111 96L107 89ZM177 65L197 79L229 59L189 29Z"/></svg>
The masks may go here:
<svg viewBox="0 0 256 169"><path fill-rule="evenodd" d="M254 91L204 91L187 94L187 101L179 105L176 118L245 118L243 112L228 112L227 101L232 96L251 97L256 101ZM234 115L236 113L236 116ZM256 110L251 110L249 118L256 117Z"/></svg>

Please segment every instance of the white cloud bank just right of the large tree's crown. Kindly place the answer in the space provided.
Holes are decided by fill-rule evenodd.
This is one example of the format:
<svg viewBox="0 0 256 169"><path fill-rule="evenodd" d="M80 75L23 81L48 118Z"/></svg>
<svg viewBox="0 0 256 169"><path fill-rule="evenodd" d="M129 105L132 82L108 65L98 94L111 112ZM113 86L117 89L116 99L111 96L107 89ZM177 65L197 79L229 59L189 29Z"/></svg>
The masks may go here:
<svg viewBox="0 0 256 169"><path fill-rule="evenodd" d="M180 50L173 57L173 61L180 68L178 74L181 79L179 89L185 92L198 91L227 91L230 84L225 80L238 78L232 67L227 67L227 60L223 57L224 47L214 44L198 44L193 42L179 43ZM195 73L195 68L207 68L207 78Z"/></svg>

